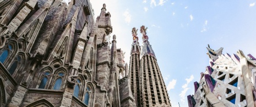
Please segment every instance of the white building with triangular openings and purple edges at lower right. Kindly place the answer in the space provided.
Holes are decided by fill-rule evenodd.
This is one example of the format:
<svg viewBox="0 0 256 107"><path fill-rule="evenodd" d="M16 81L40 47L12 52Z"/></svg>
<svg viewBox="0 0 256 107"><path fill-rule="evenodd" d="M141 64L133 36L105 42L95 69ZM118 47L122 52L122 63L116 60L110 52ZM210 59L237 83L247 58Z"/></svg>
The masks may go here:
<svg viewBox="0 0 256 107"><path fill-rule="evenodd" d="M256 59L241 50L222 54L224 48L206 47L209 66L194 82L194 95L188 95L188 106L256 106Z"/></svg>

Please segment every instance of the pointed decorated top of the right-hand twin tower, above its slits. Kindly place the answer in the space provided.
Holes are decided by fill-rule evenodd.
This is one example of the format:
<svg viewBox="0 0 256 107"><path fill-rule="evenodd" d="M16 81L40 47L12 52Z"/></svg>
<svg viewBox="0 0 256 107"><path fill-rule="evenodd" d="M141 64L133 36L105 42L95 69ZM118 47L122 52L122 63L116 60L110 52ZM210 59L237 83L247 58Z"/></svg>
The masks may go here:
<svg viewBox="0 0 256 107"><path fill-rule="evenodd" d="M155 57L155 53L154 50L152 49L150 43L149 43L149 37L148 35L146 35L146 29L148 29L148 27L145 28L145 26L141 26L140 27L140 33L142 33L142 40L143 40L143 46L141 46L141 57L144 55L151 55L152 57Z"/></svg>

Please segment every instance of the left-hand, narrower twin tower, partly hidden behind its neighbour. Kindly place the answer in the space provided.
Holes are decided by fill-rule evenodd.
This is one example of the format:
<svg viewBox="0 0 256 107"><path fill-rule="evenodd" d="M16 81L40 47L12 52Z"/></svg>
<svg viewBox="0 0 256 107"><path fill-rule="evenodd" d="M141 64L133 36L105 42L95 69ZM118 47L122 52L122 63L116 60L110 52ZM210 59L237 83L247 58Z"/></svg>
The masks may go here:
<svg viewBox="0 0 256 107"><path fill-rule="evenodd" d="M137 36L137 31L135 27L132 29L133 44L132 49L130 50L130 81L132 85L132 93L137 106L140 106L140 89L139 89L139 74L140 74L140 46L139 38Z"/></svg>

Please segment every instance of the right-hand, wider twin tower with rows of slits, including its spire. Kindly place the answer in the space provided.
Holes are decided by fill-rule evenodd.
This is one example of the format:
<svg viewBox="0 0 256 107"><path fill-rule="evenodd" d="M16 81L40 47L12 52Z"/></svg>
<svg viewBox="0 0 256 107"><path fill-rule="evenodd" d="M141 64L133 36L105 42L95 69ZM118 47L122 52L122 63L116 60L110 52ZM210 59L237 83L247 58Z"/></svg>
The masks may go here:
<svg viewBox="0 0 256 107"><path fill-rule="evenodd" d="M171 106L164 79L162 78L155 53L148 41L145 26L140 27L143 46L140 59L140 105Z"/></svg>

